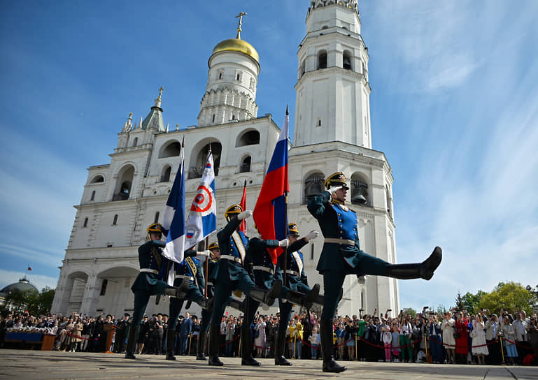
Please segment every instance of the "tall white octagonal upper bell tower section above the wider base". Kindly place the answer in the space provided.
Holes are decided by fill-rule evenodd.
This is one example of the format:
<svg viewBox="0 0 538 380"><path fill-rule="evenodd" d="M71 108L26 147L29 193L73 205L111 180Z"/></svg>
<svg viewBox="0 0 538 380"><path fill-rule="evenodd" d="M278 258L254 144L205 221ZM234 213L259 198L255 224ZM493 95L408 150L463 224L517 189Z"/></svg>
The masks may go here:
<svg viewBox="0 0 538 380"><path fill-rule="evenodd" d="M297 57L294 146L341 141L371 149L369 57L357 1L312 1Z"/></svg>

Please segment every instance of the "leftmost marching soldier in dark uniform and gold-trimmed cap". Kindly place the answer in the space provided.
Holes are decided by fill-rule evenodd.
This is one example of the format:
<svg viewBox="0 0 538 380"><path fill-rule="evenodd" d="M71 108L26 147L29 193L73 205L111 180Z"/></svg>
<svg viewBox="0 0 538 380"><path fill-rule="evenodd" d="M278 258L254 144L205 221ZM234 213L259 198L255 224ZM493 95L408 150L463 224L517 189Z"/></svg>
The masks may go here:
<svg viewBox="0 0 538 380"><path fill-rule="evenodd" d="M165 243L160 240L164 228L161 224L150 224L146 232L148 233L148 242L139 247L140 273L134 280L131 290L134 293L134 312L133 319L129 326L127 334L127 348L125 358L134 359L134 345L136 344L136 330L142 321L142 316L148 306L151 295L164 294L177 298L185 297L185 289L188 284L181 284L180 287L169 286L158 278L161 269L162 248Z"/></svg>

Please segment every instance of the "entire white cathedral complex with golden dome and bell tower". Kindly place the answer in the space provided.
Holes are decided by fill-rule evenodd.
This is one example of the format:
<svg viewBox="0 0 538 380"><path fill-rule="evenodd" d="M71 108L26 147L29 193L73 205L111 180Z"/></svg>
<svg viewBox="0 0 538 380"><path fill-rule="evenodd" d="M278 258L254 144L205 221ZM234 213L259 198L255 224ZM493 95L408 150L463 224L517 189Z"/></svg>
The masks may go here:
<svg viewBox="0 0 538 380"><path fill-rule="evenodd" d="M360 27L357 0L311 1L306 36L297 53L288 219L299 225L302 235L319 231L306 202L323 190L327 175L342 171L351 182L361 249L396 263L392 170L383 152L371 147L369 57ZM247 208L254 207L280 129L271 115L257 116L260 59L255 48L241 40L240 32L241 21L236 38L218 43L211 53L197 126L165 127L161 89L145 119L133 124L129 115L110 163L88 169L82 199L75 206L53 313L132 314L130 287L139 273L137 248L146 240L148 225L162 221L183 138L187 210L210 144L218 229L225 225L226 207L241 200L245 182ZM247 232L255 235L251 220ZM215 235L209 239L215 240ZM320 284L321 293L323 277L316 265L322 246L320 236L302 249L309 284ZM166 297L159 305L150 300L146 314L167 313L168 307ZM355 276L347 276L338 314L360 314L360 309L368 313L392 309L394 316L399 309L397 279L368 277L359 284ZM199 307L193 304L190 312L199 312ZM270 312L276 312L276 307Z"/></svg>

